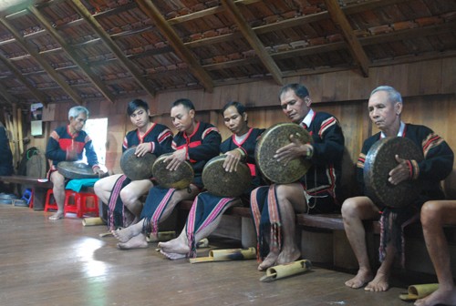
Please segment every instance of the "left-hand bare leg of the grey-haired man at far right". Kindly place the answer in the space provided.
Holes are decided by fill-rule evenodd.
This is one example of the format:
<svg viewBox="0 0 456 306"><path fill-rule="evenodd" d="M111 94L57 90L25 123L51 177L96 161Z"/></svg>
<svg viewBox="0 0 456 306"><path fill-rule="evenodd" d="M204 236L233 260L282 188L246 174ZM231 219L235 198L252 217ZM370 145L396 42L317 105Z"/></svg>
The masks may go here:
<svg viewBox="0 0 456 306"><path fill-rule="evenodd" d="M367 197L350 198L346 199L342 205L342 217L347 239L359 264L357 275L353 279L347 280L345 284L347 287L358 289L373 278L362 220L378 219L378 208Z"/></svg>

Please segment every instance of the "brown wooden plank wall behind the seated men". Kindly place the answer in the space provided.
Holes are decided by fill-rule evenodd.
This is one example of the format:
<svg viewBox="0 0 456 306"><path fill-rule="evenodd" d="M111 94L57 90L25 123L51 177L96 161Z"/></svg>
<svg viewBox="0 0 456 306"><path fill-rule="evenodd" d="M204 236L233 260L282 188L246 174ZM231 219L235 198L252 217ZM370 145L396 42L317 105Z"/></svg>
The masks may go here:
<svg viewBox="0 0 456 306"><path fill-rule="evenodd" d="M285 83L302 82L308 87L317 111L326 111L336 116L346 136L344 185L347 195L354 192L353 169L365 138L378 132L372 128L368 118L367 100L370 91L379 85L396 87L404 97L403 120L423 124L446 139L456 151L456 58L442 58L427 62L371 68L369 77L359 76L353 71L324 75L287 78ZM217 126L223 138L229 131L223 126L218 110L230 100L238 100L249 108L249 124L256 128L268 128L287 119L278 107L277 93L280 87L273 81L250 82L227 87L216 87L212 93L202 90L165 92L150 102L154 120L172 128L169 118L171 103L177 98L190 98L197 108L198 118ZM109 117L107 144L107 168L119 173L121 143L127 131L132 129L126 115L129 101L115 105L104 102L88 104L90 117ZM67 124L67 104L50 105L44 111L45 135L58 125ZM47 137L34 138L31 145L46 148ZM456 167L445 182L451 199L456 199Z"/></svg>

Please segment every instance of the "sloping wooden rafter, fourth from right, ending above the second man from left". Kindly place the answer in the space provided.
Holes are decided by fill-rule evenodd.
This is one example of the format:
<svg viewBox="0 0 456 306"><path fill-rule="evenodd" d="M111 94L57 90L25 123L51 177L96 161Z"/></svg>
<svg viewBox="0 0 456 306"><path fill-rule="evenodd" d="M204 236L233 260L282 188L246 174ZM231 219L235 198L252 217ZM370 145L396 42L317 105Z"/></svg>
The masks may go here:
<svg viewBox="0 0 456 306"><path fill-rule="evenodd" d="M140 87L142 87L150 96L155 96L155 91L150 88L147 79L141 75L140 70L127 58L127 56L125 56L123 51L116 43L114 43L112 38L108 35L108 33L106 33L98 21L90 14L90 12L88 12L86 6L84 6L80 0L71 0L71 4L78 14L86 20L95 33L97 33L106 46L109 47L112 53L118 57L120 64L130 72L130 75L135 78L135 80L140 84Z"/></svg>

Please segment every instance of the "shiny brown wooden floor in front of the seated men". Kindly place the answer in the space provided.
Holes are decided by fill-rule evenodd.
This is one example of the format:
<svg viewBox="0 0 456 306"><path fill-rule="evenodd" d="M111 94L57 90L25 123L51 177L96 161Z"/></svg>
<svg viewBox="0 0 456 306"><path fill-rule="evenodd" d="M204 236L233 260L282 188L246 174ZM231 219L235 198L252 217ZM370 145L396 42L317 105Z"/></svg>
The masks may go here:
<svg viewBox="0 0 456 306"><path fill-rule="evenodd" d="M49 215L0 205L0 305L411 305L399 300L403 288L348 289L351 275L334 270L261 282L255 260L171 261L156 243L118 250L98 237L105 226Z"/></svg>

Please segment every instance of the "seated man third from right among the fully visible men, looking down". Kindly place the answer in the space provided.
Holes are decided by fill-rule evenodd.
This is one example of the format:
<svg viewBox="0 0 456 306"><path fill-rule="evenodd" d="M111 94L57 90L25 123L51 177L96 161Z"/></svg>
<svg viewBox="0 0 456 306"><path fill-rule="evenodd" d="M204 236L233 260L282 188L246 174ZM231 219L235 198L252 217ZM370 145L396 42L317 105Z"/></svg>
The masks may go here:
<svg viewBox="0 0 456 306"><path fill-rule="evenodd" d="M209 192L199 194L193 201L181 235L174 240L159 243L161 253L170 260L195 257L195 241L209 236L219 225L223 212L234 205L241 205L243 200L248 201L250 191L260 185L260 178L256 176L254 148L264 129L249 128L245 107L239 102L229 102L223 107L223 119L225 126L233 133L220 146L221 152L226 156L223 168L229 172L236 171L239 162L245 161L254 177L252 186L245 190L244 199L223 198Z"/></svg>

